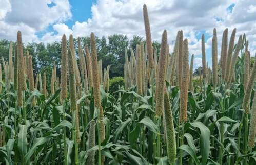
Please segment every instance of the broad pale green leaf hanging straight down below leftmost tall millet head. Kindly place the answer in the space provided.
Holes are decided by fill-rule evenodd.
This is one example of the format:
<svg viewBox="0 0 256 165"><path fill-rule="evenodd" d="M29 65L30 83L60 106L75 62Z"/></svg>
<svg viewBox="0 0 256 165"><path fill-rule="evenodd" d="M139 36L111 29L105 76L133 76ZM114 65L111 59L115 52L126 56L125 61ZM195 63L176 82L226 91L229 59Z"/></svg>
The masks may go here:
<svg viewBox="0 0 256 165"><path fill-rule="evenodd" d="M19 133L18 133L18 149L19 152L24 156L27 153L27 126L19 125Z"/></svg>

